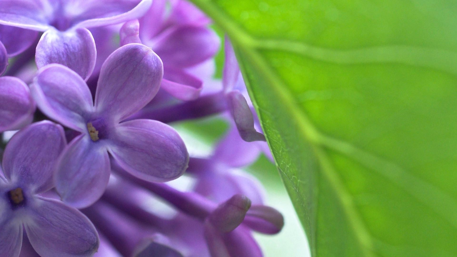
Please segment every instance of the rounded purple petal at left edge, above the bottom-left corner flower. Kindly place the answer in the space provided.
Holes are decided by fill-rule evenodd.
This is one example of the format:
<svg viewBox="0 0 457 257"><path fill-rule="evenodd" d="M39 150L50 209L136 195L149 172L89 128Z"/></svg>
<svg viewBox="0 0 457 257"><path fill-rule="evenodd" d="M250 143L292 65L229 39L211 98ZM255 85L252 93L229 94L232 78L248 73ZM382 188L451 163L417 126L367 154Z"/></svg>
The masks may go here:
<svg viewBox="0 0 457 257"><path fill-rule="evenodd" d="M20 129L32 121L35 102L28 86L15 77L0 78L0 132Z"/></svg>

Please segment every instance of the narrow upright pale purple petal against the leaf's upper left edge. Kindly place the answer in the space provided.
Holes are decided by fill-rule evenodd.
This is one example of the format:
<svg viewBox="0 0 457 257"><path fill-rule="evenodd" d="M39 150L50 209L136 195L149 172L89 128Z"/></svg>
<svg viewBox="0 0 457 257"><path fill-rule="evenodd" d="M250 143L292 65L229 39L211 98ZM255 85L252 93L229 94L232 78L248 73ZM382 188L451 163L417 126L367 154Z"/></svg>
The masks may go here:
<svg viewBox="0 0 457 257"><path fill-rule="evenodd" d="M228 37L225 37L225 60L224 69L222 72L222 85L225 92L232 91L237 84L241 72L239 70L238 61L236 60L235 52Z"/></svg>

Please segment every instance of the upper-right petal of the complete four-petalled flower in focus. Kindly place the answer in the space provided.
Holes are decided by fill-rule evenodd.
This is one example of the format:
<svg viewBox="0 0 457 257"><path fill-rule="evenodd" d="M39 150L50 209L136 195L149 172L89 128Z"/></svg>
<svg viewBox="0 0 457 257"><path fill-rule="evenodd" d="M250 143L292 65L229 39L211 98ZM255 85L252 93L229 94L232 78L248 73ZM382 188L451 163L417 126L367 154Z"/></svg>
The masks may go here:
<svg viewBox="0 0 457 257"><path fill-rule="evenodd" d="M101 67L96 109L122 121L154 98L162 76L162 61L151 48L142 44L122 46Z"/></svg>

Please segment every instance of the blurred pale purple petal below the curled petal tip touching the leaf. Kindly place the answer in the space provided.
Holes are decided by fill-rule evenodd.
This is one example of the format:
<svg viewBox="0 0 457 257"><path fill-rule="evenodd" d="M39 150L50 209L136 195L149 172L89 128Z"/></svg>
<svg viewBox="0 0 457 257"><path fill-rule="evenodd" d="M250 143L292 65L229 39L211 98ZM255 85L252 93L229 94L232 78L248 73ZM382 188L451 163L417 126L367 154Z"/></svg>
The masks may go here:
<svg viewBox="0 0 457 257"><path fill-rule="evenodd" d="M243 167L254 163L259 155L259 145L244 141L239 136L238 130L232 128L218 143L213 159L230 167Z"/></svg>

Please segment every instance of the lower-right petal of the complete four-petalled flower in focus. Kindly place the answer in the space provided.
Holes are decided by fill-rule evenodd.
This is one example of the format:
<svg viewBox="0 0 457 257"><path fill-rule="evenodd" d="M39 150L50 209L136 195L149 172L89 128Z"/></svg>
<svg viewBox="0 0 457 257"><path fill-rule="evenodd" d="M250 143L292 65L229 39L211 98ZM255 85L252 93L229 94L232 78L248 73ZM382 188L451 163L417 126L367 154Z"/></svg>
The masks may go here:
<svg viewBox="0 0 457 257"><path fill-rule="evenodd" d="M175 129L146 119L120 123L109 147L119 165L136 177L166 182L186 170L189 154Z"/></svg>

